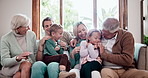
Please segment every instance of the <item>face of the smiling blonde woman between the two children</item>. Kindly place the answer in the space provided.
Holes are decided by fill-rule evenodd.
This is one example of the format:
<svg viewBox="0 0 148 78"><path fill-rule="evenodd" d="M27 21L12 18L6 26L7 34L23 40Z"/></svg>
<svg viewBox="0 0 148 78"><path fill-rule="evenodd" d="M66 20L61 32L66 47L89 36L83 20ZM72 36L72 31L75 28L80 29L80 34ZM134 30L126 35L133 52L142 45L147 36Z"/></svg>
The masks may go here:
<svg viewBox="0 0 148 78"><path fill-rule="evenodd" d="M80 39L86 39L87 29L83 24L80 24L77 28L77 35Z"/></svg>

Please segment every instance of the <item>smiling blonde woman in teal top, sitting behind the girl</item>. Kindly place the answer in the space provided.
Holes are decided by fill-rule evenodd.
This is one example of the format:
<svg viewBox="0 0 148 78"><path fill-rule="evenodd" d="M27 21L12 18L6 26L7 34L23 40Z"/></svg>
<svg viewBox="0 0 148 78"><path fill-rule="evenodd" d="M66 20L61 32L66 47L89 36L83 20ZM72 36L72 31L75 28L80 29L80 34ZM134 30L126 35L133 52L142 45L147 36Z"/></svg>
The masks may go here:
<svg viewBox="0 0 148 78"><path fill-rule="evenodd" d="M75 39L77 39L77 44L76 46L70 47L70 56L71 56L70 62L71 62L71 68L73 68L70 70L70 72L75 72L76 78L80 78L80 73L79 73L80 42L86 40L87 27L82 22L78 22L73 28L73 33L74 36L76 37Z"/></svg>

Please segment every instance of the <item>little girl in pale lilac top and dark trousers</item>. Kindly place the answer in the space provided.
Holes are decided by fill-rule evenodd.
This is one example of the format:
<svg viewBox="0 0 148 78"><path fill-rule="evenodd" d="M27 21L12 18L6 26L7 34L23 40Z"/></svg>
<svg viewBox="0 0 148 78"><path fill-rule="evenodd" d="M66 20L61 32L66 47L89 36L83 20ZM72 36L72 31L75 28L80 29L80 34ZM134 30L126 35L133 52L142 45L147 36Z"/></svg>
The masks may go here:
<svg viewBox="0 0 148 78"><path fill-rule="evenodd" d="M86 41L80 43L80 78L91 78L92 71L102 69L102 60L99 57L100 31L92 29L87 33L86 38Z"/></svg>

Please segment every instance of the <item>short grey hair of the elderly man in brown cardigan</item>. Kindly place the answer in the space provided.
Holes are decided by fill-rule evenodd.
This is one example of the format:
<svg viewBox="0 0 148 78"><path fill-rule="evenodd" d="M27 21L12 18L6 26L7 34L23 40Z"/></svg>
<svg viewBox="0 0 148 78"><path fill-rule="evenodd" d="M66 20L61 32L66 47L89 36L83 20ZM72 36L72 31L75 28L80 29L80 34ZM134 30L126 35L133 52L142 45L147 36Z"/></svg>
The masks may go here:
<svg viewBox="0 0 148 78"><path fill-rule="evenodd" d="M116 18L107 18L103 23L103 29L114 33L119 30L120 22Z"/></svg>

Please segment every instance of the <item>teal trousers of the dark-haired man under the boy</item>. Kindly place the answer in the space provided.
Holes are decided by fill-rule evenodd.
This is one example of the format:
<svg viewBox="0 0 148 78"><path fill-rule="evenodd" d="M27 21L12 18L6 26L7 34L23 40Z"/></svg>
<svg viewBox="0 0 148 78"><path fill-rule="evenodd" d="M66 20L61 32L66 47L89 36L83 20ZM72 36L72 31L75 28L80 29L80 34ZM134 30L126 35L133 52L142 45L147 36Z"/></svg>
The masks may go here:
<svg viewBox="0 0 148 78"><path fill-rule="evenodd" d="M48 78L58 78L59 76L59 63L51 62L48 66L42 62L37 61L32 65L31 78L44 78L47 72Z"/></svg>

